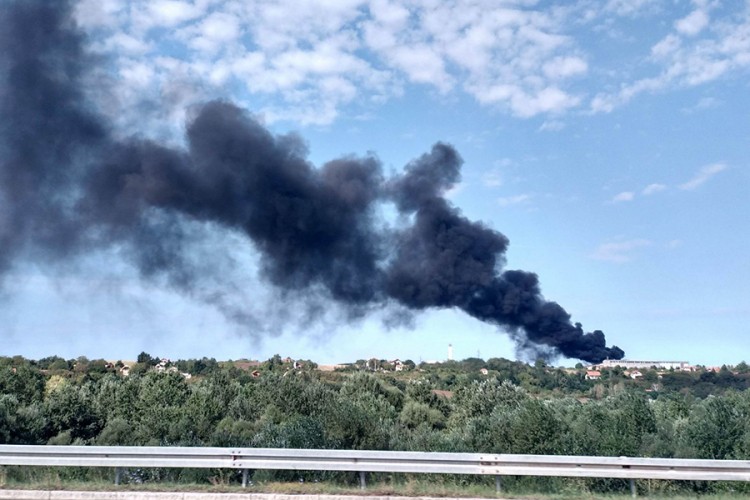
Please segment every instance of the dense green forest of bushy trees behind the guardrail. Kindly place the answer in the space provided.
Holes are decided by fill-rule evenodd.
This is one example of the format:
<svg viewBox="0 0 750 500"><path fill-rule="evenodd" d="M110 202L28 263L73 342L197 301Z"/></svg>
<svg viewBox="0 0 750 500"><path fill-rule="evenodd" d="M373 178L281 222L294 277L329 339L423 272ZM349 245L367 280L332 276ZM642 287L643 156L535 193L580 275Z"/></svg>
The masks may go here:
<svg viewBox="0 0 750 500"><path fill-rule="evenodd" d="M0 443L750 459L750 370L0 358ZM125 375L127 373L127 376Z"/></svg>

